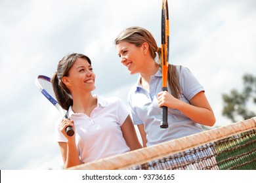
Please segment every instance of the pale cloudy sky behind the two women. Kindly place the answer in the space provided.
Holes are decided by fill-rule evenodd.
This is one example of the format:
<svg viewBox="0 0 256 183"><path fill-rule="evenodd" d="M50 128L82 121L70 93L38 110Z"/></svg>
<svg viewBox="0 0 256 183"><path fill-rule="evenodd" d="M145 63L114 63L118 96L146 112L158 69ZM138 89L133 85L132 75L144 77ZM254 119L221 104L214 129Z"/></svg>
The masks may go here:
<svg viewBox="0 0 256 183"><path fill-rule="evenodd" d="M255 73L256 1L168 3L169 62L188 67L203 85L214 127L230 124L222 115L222 95L242 90L242 76ZM0 169L63 169L54 139L60 114L34 80L53 76L67 54L91 58L94 93L127 104L138 75L129 75L120 63L114 39L133 25L148 29L161 46L161 1L0 0Z"/></svg>

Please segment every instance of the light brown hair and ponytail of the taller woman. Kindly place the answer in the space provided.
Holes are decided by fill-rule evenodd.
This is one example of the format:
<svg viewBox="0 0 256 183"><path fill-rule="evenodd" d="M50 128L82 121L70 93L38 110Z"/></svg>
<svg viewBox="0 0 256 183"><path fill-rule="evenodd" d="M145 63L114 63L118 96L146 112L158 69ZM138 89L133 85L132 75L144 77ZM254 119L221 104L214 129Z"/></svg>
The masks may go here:
<svg viewBox="0 0 256 183"><path fill-rule="evenodd" d="M147 42L150 56L155 59L156 64L161 67L161 48L158 47L156 40L148 30L139 26L124 29L115 39L115 44L119 44L119 42L129 42L135 44L137 47L140 47L144 42ZM175 65L169 64L168 84L171 89L171 94L179 99L181 96L181 87L177 78L177 69Z"/></svg>

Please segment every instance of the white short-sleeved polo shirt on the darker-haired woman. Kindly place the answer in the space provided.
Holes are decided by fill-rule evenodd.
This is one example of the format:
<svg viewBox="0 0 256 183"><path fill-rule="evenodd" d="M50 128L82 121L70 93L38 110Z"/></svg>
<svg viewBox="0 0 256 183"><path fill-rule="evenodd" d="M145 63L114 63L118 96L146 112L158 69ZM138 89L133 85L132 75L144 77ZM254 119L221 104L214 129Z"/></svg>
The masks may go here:
<svg viewBox="0 0 256 183"><path fill-rule="evenodd" d="M68 110L70 120L74 120L75 143L83 163L130 150L121 131L121 125L129 115L124 103L117 97L95 97L98 104L91 116L74 113L72 107ZM60 121L56 126L56 141L66 142L66 137L58 129L59 125Z"/></svg>

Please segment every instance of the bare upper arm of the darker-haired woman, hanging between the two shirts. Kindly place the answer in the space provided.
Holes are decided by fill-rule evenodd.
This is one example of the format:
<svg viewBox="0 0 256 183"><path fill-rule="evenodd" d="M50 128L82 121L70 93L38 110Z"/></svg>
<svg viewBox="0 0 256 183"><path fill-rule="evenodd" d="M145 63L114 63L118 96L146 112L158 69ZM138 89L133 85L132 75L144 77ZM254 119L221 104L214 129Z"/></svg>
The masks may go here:
<svg viewBox="0 0 256 183"><path fill-rule="evenodd" d="M123 132L123 138L127 146L129 146L131 150L142 148L130 115L127 116L125 122L121 125L121 131Z"/></svg>

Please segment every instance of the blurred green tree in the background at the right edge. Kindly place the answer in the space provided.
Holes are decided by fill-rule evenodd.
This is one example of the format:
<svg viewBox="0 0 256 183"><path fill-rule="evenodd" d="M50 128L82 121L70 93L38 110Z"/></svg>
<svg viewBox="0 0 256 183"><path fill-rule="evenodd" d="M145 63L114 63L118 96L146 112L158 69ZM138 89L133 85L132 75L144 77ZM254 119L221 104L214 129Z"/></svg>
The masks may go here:
<svg viewBox="0 0 256 183"><path fill-rule="evenodd" d="M232 122L238 118L247 120L256 116L251 107L256 104L256 77L250 74L243 76L244 88L242 92L233 89L229 94L223 94L224 108L223 116Z"/></svg>

